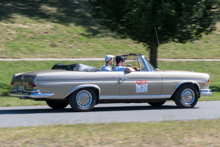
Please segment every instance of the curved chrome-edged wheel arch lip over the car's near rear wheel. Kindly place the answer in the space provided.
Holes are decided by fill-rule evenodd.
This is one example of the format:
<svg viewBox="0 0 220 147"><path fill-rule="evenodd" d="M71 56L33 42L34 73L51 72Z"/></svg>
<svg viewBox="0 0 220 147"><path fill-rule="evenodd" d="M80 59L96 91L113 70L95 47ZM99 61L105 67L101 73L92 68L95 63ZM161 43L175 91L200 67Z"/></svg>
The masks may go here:
<svg viewBox="0 0 220 147"><path fill-rule="evenodd" d="M65 97L64 99L68 99L68 97L74 93L75 91L79 90L79 89L83 89L83 88L91 88L95 91L95 94L97 96L97 101L99 99L99 96L101 94L101 88L97 85L94 85L94 84L84 84L84 85L79 85L77 87L75 87L73 90L71 90Z"/></svg>

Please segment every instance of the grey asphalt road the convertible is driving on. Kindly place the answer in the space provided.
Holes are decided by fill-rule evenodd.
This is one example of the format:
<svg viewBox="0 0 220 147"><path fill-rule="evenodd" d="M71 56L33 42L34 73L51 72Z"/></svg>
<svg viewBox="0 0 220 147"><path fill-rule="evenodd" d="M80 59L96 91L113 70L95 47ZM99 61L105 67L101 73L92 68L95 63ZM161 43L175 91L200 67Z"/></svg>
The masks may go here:
<svg viewBox="0 0 220 147"><path fill-rule="evenodd" d="M141 104L99 104L90 112L53 110L48 106L0 107L0 127L53 124L151 122L219 119L220 101L199 101L194 108L180 109L174 102L162 107Z"/></svg>

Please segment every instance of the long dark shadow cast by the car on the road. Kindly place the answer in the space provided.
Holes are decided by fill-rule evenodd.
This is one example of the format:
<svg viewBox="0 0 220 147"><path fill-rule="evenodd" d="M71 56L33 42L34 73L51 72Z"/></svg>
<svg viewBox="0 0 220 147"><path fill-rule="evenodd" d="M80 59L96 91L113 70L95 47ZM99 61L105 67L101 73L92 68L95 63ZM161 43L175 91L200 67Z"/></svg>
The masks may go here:
<svg viewBox="0 0 220 147"><path fill-rule="evenodd" d="M51 108L27 108L27 109L16 109L12 108L11 110L0 110L0 115L2 114L40 114L40 113L93 113L93 112L115 112L115 111L143 111L143 110L175 110L181 109L177 106L166 105L162 107L152 107L152 106L112 106L112 107L95 107L90 112L75 112L71 108L66 109L51 109ZM189 108L189 109L197 109L197 107Z"/></svg>

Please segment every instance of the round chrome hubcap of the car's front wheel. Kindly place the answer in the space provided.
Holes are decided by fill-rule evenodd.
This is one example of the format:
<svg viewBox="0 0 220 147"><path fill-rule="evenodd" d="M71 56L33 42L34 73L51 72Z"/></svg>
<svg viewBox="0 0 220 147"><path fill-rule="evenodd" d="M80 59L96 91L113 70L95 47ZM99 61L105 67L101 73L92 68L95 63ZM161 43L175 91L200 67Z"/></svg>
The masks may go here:
<svg viewBox="0 0 220 147"><path fill-rule="evenodd" d="M195 100L194 91L189 88L183 90L183 92L181 93L181 100L182 100L183 104L185 104L185 105L192 104Z"/></svg>

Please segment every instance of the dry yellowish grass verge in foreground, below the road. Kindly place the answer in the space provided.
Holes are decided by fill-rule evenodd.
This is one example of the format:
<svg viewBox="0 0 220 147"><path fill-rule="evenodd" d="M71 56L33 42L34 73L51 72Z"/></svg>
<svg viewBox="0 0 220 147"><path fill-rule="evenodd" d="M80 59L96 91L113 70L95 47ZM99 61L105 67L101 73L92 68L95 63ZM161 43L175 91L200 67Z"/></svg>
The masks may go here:
<svg viewBox="0 0 220 147"><path fill-rule="evenodd" d="M220 120L0 128L1 146L217 147Z"/></svg>

